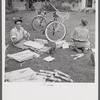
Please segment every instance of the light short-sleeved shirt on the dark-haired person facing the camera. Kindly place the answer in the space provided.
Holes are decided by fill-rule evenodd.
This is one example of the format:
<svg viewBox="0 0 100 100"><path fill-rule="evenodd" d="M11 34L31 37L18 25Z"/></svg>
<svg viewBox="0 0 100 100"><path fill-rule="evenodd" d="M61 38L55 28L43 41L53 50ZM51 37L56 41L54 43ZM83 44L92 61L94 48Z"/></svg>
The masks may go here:
<svg viewBox="0 0 100 100"><path fill-rule="evenodd" d="M12 38L16 38L17 41L20 41L20 40L24 37L24 35L25 35L26 33L27 33L27 31L26 31L23 27L21 27L20 30L18 30L18 29L15 27L15 28L13 28L13 29L11 30L11 33L10 33L11 40L12 40ZM12 41L13 41L13 40L12 40Z"/></svg>

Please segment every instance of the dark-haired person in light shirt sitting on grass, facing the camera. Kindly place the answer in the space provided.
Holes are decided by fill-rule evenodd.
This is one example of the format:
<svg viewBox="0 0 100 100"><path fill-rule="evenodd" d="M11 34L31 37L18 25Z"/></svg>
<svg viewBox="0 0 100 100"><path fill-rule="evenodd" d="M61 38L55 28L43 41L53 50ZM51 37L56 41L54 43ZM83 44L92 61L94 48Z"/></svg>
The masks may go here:
<svg viewBox="0 0 100 100"><path fill-rule="evenodd" d="M26 49L23 43L29 40L30 34L21 26L22 22L21 18L14 21L15 27L11 30L10 38L14 46Z"/></svg>

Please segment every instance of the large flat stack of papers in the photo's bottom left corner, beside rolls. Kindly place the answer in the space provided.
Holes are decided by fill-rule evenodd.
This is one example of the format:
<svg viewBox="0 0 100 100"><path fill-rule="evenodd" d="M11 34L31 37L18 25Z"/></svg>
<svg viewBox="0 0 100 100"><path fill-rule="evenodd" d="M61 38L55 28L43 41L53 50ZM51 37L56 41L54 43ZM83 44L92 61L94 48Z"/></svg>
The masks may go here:
<svg viewBox="0 0 100 100"><path fill-rule="evenodd" d="M25 81L33 81L33 82L44 82L45 79L43 76L36 75L31 68L19 69L11 72L5 73L5 81L6 82L25 82Z"/></svg>

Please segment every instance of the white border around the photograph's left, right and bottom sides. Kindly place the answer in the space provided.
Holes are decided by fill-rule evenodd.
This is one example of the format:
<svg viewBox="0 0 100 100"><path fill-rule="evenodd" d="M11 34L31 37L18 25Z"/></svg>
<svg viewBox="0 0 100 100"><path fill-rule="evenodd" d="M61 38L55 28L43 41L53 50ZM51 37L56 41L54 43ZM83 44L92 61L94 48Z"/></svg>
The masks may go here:
<svg viewBox="0 0 100 100"><path fill-rule="evenodd" d="M94 83L4 82L5 73L5 0L2 0L2 100L98 100L98 0L95 23Z"/></svg>

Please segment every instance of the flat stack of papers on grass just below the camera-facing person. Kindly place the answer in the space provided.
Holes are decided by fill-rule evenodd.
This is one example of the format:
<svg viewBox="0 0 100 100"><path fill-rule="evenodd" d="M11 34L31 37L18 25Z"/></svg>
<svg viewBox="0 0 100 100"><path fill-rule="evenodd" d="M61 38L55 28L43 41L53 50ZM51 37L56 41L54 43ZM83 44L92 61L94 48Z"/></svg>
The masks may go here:
<svg viewBox="0 0 100 100"><path fill-rule="evenodd" d="M25 50L25 51L21 51L21 52L15 53L15 54L8 54L7 56L18 62L23 62L23 61L32 59L33 57L38 58L40 55L35 52L32 52L30 50Z"/></svg>

